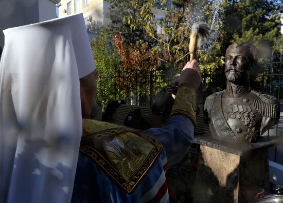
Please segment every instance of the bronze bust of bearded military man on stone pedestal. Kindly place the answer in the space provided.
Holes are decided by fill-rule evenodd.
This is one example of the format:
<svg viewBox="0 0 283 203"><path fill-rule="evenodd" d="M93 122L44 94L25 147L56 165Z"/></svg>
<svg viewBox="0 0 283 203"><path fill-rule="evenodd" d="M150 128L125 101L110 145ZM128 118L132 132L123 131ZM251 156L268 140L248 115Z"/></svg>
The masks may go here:
<svg viewBox="0 0 283 203"><path fill-rule="evenodd" d="M252 143L278 123L278 100L250 88L249 74L254 64L249 44L234 42L226 50L226 89L208 96L204 104L204 119L214 138Z"/></svg>

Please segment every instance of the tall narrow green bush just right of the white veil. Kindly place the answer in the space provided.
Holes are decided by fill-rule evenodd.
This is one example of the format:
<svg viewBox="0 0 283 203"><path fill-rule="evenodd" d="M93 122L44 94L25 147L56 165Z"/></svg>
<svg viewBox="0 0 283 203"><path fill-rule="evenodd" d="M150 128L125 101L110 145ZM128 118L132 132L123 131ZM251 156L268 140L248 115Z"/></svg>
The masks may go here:
<svg viewBox="0 0 283 203"><path fill-rule="evenodd" d="M97 100L105 107L109 101L120 99L115 77L119 55L107 30L100 31L99 36L91 41L91 47L98 71Z"/></svg>

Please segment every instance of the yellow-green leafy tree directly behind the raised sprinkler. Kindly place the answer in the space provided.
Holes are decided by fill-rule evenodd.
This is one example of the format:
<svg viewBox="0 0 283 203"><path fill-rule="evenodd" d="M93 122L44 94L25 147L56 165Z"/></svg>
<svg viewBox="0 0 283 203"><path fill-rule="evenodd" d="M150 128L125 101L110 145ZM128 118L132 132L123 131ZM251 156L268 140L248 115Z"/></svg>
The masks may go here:
<svg viewBox="0 0 283 203"><path fill-rule="evenodd" d="M149 1L150 2L150 1ZM211 17L214 14L212 4L209 1L174 1L178 9L168 10L165 17L156 19L154 17L154 1L140 8L139 15L136 18L129 18L130 24L140 24L144 27L147 34L157 42L161 54L158 56L167 67L175 68L180 71L189 59L189 36L190 27L197 21L205 21L208 26L215 23ZM166 1L161 2L166 8ZM166 9L165 9L166 10ZM216 25L219 26L219 25ZM161 28L158 33L156 27ZM218 36L218 33L214 33ZM213 45L216 49L207 51L200 50L198 59L202 73L214 74L217 68L224 64L224 57L221 52L219 39L216 37ZM211 83L212 78L207 77L206 83Z"/></svg>

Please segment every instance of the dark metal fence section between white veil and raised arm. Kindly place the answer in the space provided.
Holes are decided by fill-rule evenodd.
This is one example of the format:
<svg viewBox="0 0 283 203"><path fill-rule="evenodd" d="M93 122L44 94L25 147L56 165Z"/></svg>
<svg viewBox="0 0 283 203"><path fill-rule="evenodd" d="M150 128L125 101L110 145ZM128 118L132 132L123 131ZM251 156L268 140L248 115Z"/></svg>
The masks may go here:
<svg viewBox="0 0 283 203"><path fill-rule="evenodd" d="M98 99L125 100L127 104L150 106L154 95L170 85L170 75L163 71L109 71L98 76ZM107 102L103 101L103 106Z"/></svg>

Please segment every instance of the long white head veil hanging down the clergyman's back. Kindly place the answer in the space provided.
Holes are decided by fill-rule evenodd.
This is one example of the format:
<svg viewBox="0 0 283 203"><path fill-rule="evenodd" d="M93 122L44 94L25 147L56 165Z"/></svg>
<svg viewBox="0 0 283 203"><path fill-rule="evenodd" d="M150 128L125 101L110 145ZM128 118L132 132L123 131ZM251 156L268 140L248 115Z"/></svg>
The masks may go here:
<svg viewBox="0 0 283 203"><path fill-rule="evenodd" d="M4 34L0 202L70 202L82 134L79 78L95 70L83 15Z"/></svg>

